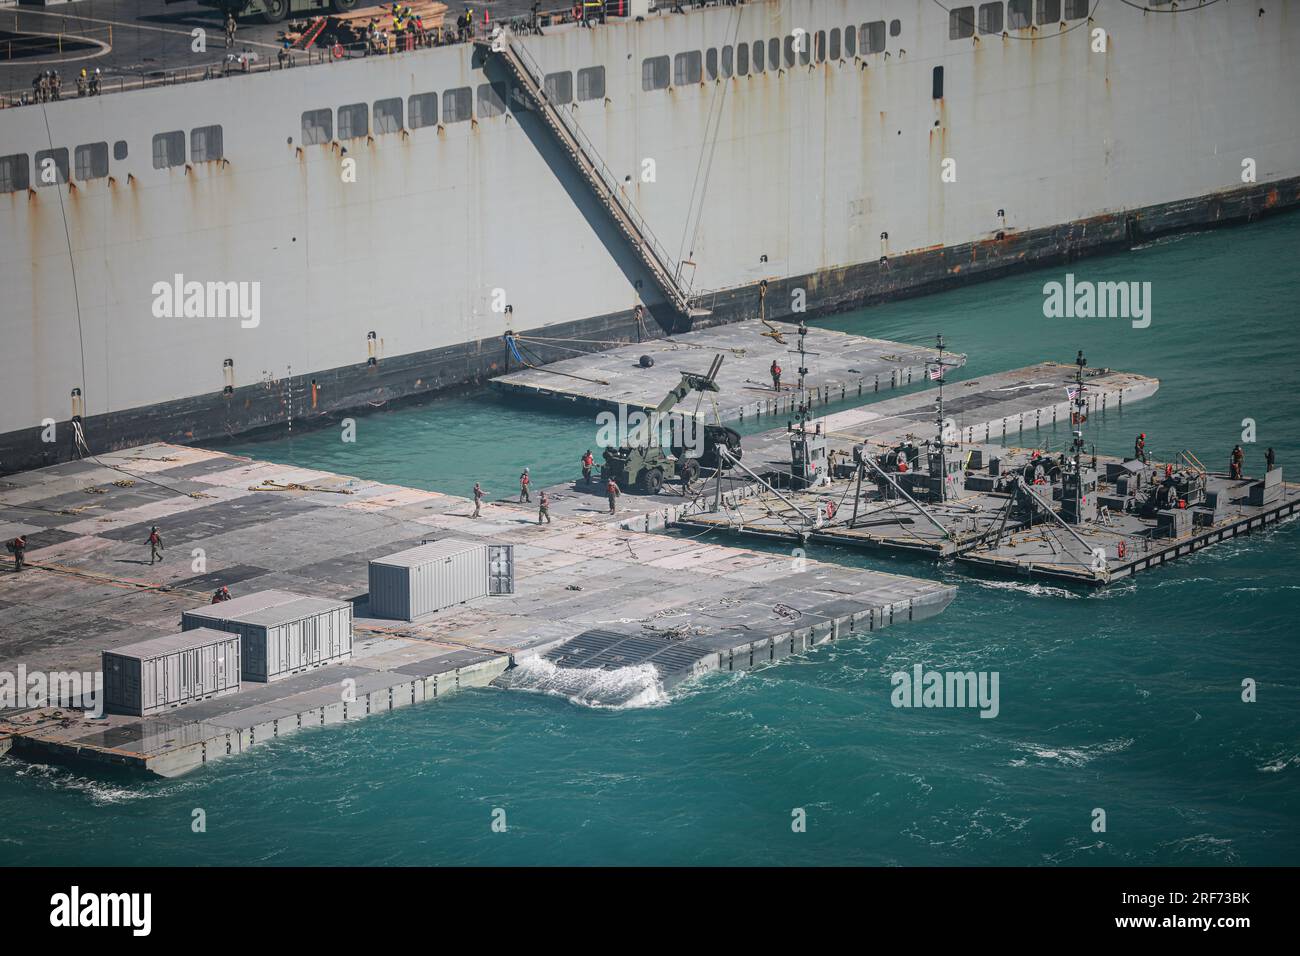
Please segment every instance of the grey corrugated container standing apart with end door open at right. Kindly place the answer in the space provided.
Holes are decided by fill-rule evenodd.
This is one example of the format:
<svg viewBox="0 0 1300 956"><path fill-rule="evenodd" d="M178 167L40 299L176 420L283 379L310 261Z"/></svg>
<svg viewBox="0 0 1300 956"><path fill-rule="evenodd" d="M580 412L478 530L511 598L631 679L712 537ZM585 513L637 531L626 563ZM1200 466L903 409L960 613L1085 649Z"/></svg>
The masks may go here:
<svg viewBox="0 0 1300 956"><path fill-rule="evenodd" d="M443 538L370 562L370 614L415 620L488 594L488 545Z"/></svg>

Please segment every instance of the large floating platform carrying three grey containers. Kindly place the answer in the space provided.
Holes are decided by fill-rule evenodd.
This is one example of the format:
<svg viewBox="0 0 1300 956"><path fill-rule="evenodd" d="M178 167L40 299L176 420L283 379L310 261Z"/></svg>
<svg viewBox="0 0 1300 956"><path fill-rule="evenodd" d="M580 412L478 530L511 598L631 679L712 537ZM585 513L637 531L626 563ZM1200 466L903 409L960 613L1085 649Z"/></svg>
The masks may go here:
<svg viewBox="0 0 1300 956"><path fill-rule="evenodd" d="M645 507L653 506L646 502ZM228 585L344 598L346 662L156 717L86 717L48 701L0 713L0 749L177 775L308 727L489 684L620 705L629 671L662 689L940 613L953 588L629 531L644 519L456 498L214 451L151 445L0 481L0 672L92 672L100 652L179 630ZM157 525L164 561L150 564ZM415 623L369 617L367 562L430 537L515 546L515 593ZM627 683L627 682L621 682ZM634 683L634 682L633 682ZM633 688L634 689L634 688Z"/></svg>

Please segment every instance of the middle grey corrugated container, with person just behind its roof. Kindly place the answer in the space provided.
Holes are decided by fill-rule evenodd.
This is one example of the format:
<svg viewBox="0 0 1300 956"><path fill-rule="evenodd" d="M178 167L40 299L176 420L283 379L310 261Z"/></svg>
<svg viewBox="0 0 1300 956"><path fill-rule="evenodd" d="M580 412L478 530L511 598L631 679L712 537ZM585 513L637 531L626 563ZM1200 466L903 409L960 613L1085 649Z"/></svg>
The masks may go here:
<svg viewBox="0 0 1300 956"><path fill-rule="evenodd" d="M244 680L281 680L352 657L352 605L289 591L259 591L195 607L181 618L186 631L214 627L243 640Z"/></svg>

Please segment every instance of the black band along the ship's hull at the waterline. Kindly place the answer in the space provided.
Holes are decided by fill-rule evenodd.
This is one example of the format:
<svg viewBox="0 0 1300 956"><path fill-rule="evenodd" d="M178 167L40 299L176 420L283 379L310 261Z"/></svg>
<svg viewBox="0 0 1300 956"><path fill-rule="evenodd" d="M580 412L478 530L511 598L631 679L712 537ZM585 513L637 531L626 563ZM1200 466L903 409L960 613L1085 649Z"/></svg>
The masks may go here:
<svg viewBox="0 0 1300 956"><path fill-rule="evenodd" d="M790 317L790 290L807 293L807 316L829 315L890 299L922 295L966 282L1069 263L1114 252L1169 233L1248 222L1300 204L1300 178L1244 186L1196 199L1098 216L1050 229L1006 232L988 239L901 255L885 261L827 269L811 276L768 280L767 315ZM698 300L711 315L696 328L754 319L759 312L757 285L710 293ZM670 310L653 306L638 328L634 315L611 313L547 326L545 338L607 341L611 346L658 337L672 328ZM526 333L525 333L526 334ZM530 342L543 362L572 355L559 347ZM417 401L454 388L474 385L517 364L507 360L499 338L237 388L160 405L95 415L83 423L91 451L103 453L155 441L195 444L250 432L313 428L337 421L344 412L363 414L393 402ZM68 421L56 427L56 441L43 442L42 428L0 436L0 475L40 468L77 457Z"/></svg>

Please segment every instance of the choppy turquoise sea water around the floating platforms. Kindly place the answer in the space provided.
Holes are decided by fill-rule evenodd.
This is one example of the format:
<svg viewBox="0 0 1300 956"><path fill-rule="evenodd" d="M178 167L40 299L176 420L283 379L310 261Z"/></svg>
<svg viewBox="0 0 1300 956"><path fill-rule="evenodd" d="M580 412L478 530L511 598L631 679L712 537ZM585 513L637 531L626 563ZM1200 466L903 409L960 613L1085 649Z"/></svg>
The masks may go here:
<svg viewBox="0 0 1300 956"><path fill-rule="evenodd" d="M1072 359L1157 376L1089 421L1100 451L1300 468L1291 333L1300 216L1076 263L1150 281L1153 321L1048 320L1050 269L819 323L944 332L965 377ZM594 427L485 393L225 450L464 494L571 477ZM1060 446L1066 436L1046 433ZM926 563L814 557L959 585L941 617L641 709L469 691L306 732L172 782L0 761L0 864L1296 864L1300 531L1232 541L1101 594ZM992 670L1001 713L907 710L889 675ZM1244 678L1258 701L1244 704ZM493 830L494 809L507 830ZM792 831L792 810L807 831ZM1093 832L1093 809L1106 831ZM203 809L207 832L191 832Z"/></svg>

